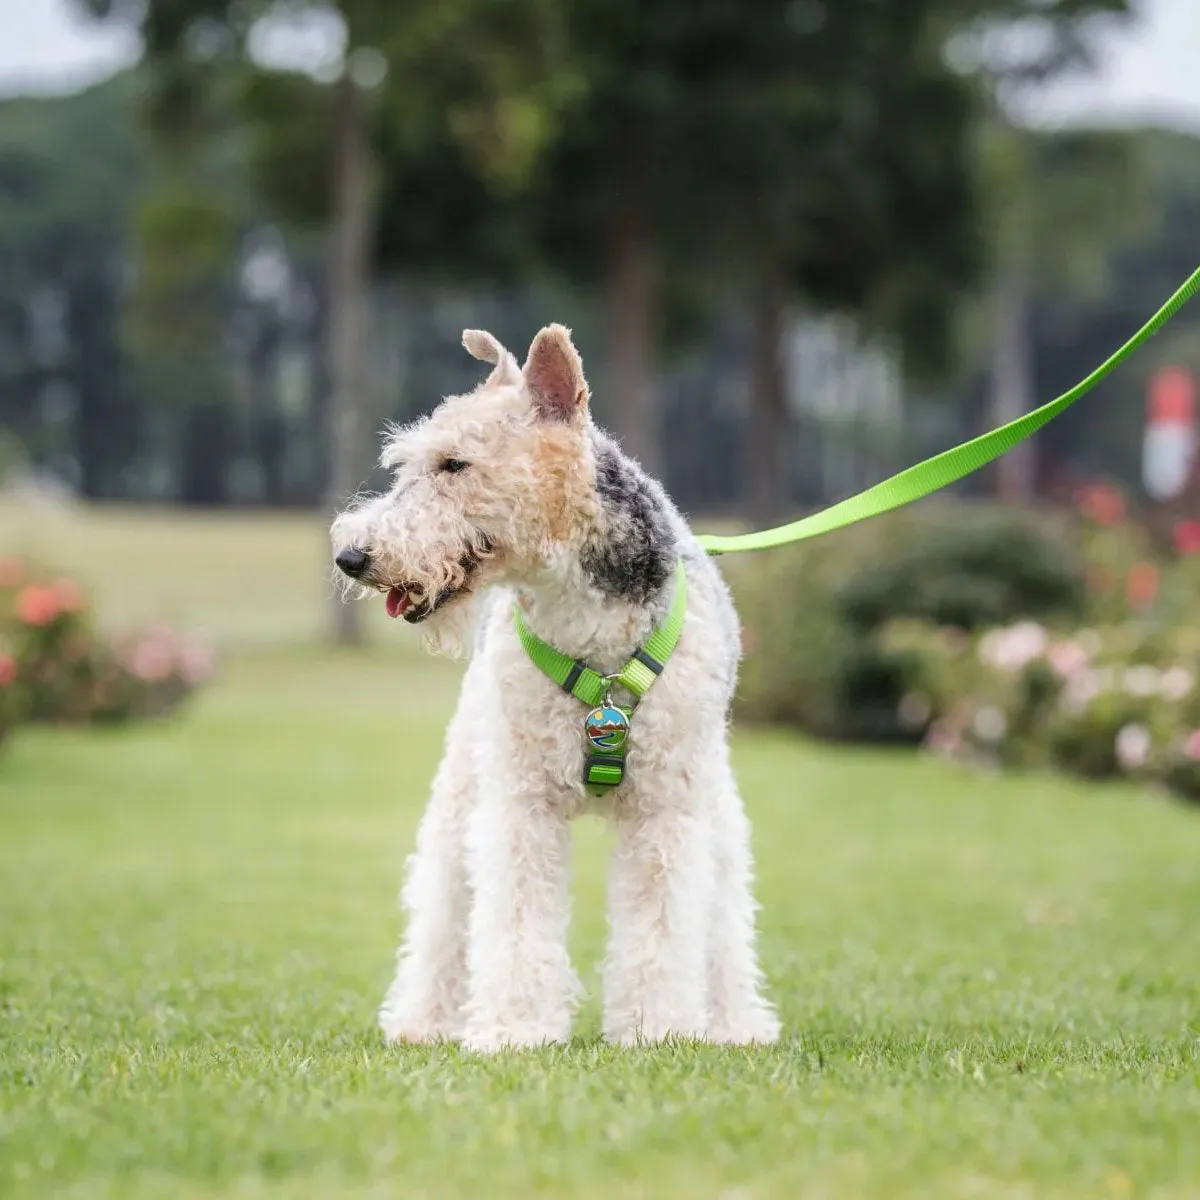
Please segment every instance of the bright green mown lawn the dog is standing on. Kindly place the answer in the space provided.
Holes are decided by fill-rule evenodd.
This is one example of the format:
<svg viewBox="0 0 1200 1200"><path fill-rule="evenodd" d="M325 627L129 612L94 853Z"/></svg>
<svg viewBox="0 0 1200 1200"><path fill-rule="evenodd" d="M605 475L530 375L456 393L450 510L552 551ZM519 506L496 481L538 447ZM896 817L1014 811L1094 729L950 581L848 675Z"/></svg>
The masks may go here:
<svg viewBox="0 0 1200 1200"><path fill-rule="evenodd" d="M97 520L115 545L136 523ZM288 592L319 552L300 523L239 614L245 534L202 524L163 523L163 574L242 647L217 684L167 726L23 731L0 760L0 1195L1200 1192L1200 811L1124 788L742 731L779 1046L599 1040L610 839L583 822L572 1044L384 1048L456 672L394 630L292 644L322 602ZM286 636L245 648L276 601Z"/></svg>

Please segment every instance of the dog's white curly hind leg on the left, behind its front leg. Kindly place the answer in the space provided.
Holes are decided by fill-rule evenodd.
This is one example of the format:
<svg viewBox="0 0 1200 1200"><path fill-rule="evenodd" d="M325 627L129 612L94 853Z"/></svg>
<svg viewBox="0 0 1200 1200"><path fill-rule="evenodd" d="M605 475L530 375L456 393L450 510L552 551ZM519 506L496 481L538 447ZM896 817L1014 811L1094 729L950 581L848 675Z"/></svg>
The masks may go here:
<svg viewBox="0 0 1200 1200"><path fill-rule="evenodd" d="M379 1009L389 1042L455 1039L462 1033L470 911L466 834L478 788L469 683L462 696L406 869L401 902L408 924L396 978Z"/></svg>

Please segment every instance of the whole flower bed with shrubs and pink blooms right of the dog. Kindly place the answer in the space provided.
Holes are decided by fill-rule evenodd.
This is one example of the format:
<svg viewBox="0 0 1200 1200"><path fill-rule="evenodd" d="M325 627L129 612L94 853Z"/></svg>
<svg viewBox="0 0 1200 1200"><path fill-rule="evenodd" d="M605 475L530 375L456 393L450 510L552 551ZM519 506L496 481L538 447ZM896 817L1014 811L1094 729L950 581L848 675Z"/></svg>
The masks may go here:
<svg viewBox="0 0 1200 1200"><path fill-rule="evenodd" d="M1200 521L946 504L736 563L739 715L1200 798Z"/></svg>

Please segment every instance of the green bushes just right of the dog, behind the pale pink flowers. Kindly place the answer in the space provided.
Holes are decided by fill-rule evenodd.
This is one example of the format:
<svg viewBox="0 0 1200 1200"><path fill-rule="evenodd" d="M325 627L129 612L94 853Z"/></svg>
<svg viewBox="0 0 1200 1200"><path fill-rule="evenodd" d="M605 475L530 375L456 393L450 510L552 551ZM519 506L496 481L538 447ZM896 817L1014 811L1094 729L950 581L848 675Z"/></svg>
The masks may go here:
<svg viewBox="0 0 1200 1200"><path fill-rule="evenodd" d="M750 656L738 690L752 720L823 737L912 740L899 714L912 655L888 624L974 630L1021 614L1079 614L1082 559L1043 517L931 505L733 568Z"/></svg>

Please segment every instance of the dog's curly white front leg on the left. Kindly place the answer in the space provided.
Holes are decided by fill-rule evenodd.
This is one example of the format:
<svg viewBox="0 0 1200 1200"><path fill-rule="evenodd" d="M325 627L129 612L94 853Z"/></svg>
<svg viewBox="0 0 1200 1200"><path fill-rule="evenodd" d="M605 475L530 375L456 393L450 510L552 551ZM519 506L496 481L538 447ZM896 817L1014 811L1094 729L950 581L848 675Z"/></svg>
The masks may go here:
<svg viewBox="0 0 1200 1200"><path fill-rule="evenodd" d="M557 798L486 781L469 838L473 904L464 1044L565 1042L580 985L566 950L570 834Z"/></svg>

